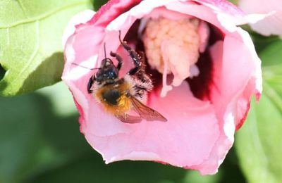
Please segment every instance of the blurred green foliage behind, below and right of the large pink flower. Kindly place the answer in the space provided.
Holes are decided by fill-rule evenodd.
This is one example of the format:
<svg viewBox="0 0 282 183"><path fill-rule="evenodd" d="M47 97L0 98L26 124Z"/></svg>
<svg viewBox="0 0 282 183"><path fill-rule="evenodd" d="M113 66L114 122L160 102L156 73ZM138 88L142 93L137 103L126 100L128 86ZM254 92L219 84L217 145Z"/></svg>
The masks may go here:
<svg viewBox="0 0 282 183"><path fill-rule="evenodd" d="M94 9L105 2L94 1ZM80 134L72 96L59 82L32 94L0 96L0 183L282 182L282 41L243 28L262 58L264 94L259 104L252 102L216 175L145 161L105 165Z"/></svg>

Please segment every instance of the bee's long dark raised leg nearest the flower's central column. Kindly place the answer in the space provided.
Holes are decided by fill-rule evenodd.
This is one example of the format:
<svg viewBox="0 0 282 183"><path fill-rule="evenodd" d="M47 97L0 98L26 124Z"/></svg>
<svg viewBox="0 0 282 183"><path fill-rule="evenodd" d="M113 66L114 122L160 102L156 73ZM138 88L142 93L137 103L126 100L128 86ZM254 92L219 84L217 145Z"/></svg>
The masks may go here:
<svg viewBox="0 0 282 183"><path fill-rule="evenodd" d="M129 75L135 75L136 72L138 72L141 68L141 61L140 61L140 56L136 53L136 51L134 51L130 46L128 46L128 44L126 44L126 42L123 42L121 40L121 31L119 31L119 41L121 42L121 45L123 46L123 48L128 51L130 57L133 59L133 63L135 65L135 68L132 68L129 70Z"/></svg>

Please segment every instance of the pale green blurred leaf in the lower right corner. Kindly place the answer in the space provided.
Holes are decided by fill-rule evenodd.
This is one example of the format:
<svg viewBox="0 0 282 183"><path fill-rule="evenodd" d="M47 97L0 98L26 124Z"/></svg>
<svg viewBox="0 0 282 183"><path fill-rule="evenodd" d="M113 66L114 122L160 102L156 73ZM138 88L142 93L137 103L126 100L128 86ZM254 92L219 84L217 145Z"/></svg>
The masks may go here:
<svg viewBox="0 0 282 183"><path fill-rule="evenodd" d="M281 182L282 115L269 96L252 103L247 121L236 135L241 168L249 182Z"/></svg>

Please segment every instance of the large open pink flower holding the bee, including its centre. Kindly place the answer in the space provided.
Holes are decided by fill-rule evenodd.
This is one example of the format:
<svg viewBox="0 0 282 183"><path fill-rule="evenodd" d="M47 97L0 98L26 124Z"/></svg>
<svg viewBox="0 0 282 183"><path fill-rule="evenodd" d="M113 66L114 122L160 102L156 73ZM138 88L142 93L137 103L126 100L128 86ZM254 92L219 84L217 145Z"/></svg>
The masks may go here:
<svg viewBox="0 0 282 183"><path fill-rule="evenodd" d="M262 92L261 62L249 34L237 27L249 20L223 0L112 0L97 13L73 18L63 38L62 78L90 145L106 163L154 160L214 174L243 125L252 94L259 99ZM88 94L96 71L87 68L99 67L104 43L107 57L114 51L123 58L121 77L133 67L119 31L130 46L145 51L154 80L145 105L167 122L121 122Z"/></svg>

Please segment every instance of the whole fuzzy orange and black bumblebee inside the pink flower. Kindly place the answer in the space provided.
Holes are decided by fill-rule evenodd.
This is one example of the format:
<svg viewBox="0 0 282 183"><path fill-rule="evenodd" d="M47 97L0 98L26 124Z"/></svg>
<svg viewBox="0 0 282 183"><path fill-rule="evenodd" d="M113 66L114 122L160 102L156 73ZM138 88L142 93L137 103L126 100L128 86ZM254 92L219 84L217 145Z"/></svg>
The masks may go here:
<svg viewBox="0 0 282 183"><path fill-rule="evenodd" d="M130 69L125 77L119 78L118 72L123 65L123 59L118 53L111 51L110 55L118 61L118 64L114 65L113 61L106 57L104 45L105 58L97 72L90 77L87 92L93 94L106 112L116 116L122 122L137 123L142 119L166 122L163 115L141 102L153 87L152 80L145 73L144 53L141 57L126 42L122 41L121 32L118 37L121 46L132 58L135 67ZM134 110L139 116L129 115L130 110Z"/></svg>

